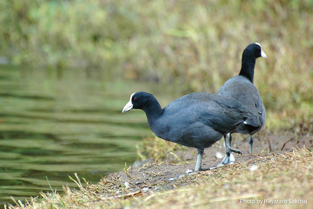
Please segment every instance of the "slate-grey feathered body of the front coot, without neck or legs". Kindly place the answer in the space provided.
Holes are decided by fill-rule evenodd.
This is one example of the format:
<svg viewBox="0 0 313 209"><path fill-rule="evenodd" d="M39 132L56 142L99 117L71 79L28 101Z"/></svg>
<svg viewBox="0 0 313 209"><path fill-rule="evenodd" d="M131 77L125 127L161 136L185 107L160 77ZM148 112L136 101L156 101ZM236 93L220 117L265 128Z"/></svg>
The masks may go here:
<svg viewBox="0 0 313 209"><path fill-rule="evenodd" d="M233 98L196 92L168 104L150 128L165 140L203 149L252 115Z"/></svg>

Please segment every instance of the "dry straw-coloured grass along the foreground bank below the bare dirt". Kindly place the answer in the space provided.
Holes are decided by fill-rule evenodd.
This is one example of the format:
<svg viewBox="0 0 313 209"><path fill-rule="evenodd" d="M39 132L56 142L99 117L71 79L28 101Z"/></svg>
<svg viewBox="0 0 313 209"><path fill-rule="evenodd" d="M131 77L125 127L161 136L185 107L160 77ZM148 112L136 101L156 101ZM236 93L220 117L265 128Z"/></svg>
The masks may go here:
<svg viewBox="0 0 313 209"><path fill-rule="evenodd" d="M41 198L34 198L30 203L16 202L18 206L7 208L312 208L312 159L313 152L307 147L266 154L196 175L185 175L177 179L176 189L152 193L116 195L114 188L121 188L119 181L112 180L109 185L109 180L104 178L97 185L85 182L85 188L79 181L76 183L80 190L71 191L66 186L63 195L42 193ZM186 186L180 186L186 182ZM264 203L264 200L277 199L286 200L287 204ZM306 203L290 203L299 199ZM243 202L249 200L263 203Z"/></svg>

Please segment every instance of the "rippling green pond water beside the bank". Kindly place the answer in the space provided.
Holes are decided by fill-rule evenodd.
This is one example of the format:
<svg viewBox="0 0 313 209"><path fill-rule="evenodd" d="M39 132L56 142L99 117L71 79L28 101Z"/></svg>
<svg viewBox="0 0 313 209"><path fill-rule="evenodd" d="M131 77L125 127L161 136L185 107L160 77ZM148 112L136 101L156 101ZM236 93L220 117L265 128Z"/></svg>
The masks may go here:
<svg viewBox="0 0 313 209"><path fill-rule="evenodd" d="M144 83L33 72L0 65L0 202L75 186L67 174L96 184L136 160L151 136L143 111L121 114L130 94L156 92ZM154 90L153 90L154 89ZM162 95L162 92L157 94ZM171 97L172 99L172 97ZM161 97L163 103L171 101ZM162 104L162 102L161 102ZM162 105L164 106L164 105Z"/></svg>

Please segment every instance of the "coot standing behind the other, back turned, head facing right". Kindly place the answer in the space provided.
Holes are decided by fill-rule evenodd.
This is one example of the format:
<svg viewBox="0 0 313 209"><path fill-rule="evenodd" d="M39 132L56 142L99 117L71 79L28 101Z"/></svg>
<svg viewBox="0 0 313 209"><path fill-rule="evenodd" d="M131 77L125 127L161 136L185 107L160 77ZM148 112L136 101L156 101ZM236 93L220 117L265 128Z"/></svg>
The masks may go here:
<svg viewBox="0 0 313 209"><path fill-rule="evenodd" d="M264 127L266 120L265 107L259 91L253 84L254 65L258 57L267 59L259 43L249 44L242 53L241 69L238 76L234 76L224 83L217 94L232 97L238 100L247 110L256 117L245 120L231 133L249 134L249 153L252 153L252 135ZM228 144L231 145L231 133L227 134ZM222 161L223 162L223 161ZM227 162L224 162L227 163Z"/></svg>

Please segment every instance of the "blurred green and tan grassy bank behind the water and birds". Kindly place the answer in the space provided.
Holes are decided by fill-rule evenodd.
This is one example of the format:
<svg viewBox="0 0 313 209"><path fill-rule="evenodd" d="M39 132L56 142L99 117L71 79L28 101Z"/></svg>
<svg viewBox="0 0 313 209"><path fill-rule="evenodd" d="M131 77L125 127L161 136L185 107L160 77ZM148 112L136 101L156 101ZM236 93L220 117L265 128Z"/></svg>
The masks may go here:
<svg viewBox="0 0 313 209"><path fill-rule="evenodd" d="M269 130L312 132L313 1L2 0L0 55L62 79L135 79L216 93L259 42Z"/></svg>

